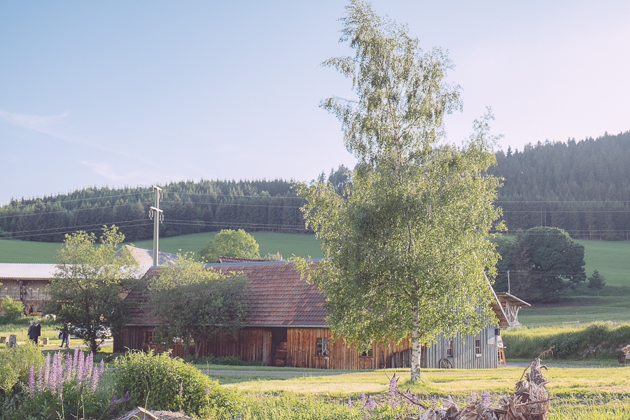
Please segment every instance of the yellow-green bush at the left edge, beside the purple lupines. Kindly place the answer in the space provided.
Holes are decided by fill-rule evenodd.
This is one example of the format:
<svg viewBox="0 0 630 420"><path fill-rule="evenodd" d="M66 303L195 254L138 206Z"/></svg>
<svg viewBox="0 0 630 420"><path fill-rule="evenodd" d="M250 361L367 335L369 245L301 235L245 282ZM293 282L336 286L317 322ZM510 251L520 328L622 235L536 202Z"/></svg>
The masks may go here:
<svg viewBox="0 0 630 420"><path fill-rule="evenodd" d="M38 346L30 340L19 347L0 346L0 394L8 394L18 381L28 384L31 365L43 365L44 358Z"/></svg>

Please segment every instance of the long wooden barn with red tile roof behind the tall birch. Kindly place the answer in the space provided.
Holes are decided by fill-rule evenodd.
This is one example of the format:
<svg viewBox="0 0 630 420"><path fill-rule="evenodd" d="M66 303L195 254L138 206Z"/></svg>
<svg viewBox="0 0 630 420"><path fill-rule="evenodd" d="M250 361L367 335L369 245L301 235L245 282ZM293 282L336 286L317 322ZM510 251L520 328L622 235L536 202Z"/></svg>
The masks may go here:
<svg viewBox="0 0 630 420"><path fill-rule="evenodd" d="M241 360L260 360L264 365L311 367L322 369L377 369L409 367L409 342L400 344L372 343L372 349L360 353L341 339L332 341L326 325L325 296L316 286L300 279L292 264L283 261L225 262L208 264L223 272L243 272L248 279L250 297L246 327L235 340L214 340L202 344L200 354L215 357L236 356ZM145 279L158 272L150 269ZM132 290L127 299L136 302L130 321L114 337L114 351L128 349L158 349L153 342L155 323L144 309L146 297L141 288ZM522 302L522 301L521 301ZM512 325L502 304L496 300L493 309L501 327ZM497 367L497 338L500 329L485 328L479 335L465 340L440 339L423 349L423 367L440 367L440 360L449 360L446 367ZM174 349L178 356L186 356L181 346ZM442 365L445 365L442 360Z"/></svg>

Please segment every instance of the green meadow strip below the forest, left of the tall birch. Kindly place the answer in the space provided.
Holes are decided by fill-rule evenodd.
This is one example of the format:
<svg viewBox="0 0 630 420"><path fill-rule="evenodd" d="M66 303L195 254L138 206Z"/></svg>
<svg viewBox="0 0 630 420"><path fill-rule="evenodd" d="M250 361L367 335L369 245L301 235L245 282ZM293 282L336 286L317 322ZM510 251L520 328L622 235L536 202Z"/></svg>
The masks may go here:
<svg viewBox="0 0 630 420"><path fill-rule="evenodd" d="M160 238L160 250L169 253L199 253L217 232L195 233L179 237ZM301 235L280 232L252 232L260 253L279 252L284 258L295 254L300 257L322 258L319 242L314 235ZM140 248L153 248L153 240L134 242ZM63 244L48 242L15 241L0 239L0 262L55 262L55 255Z"/></svg>

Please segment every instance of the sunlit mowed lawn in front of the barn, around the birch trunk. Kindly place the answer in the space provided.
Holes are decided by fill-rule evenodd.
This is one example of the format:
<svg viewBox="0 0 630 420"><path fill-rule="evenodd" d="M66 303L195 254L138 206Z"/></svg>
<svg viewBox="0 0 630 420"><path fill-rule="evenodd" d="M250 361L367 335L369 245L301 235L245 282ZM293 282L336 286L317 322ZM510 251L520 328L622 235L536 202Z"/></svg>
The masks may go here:
<svg viewBox="0 0 630 420"><path fill-rule="evenodd" d="M544 362L544 360L543 360ZM524 367L502 367L492 370L423 370L418 384L409 382L409 370L314 370L278 367L236 367L197 365L202 372L218 379L221 384L239 391L275 393L278 391L325 395L329 397L357 397L360 393L386 393L389 378L395 373L398 385L412 393L446 397L463 397L472 391L477 394L491 391L507 394L521 379ZM630 395L630 367L549 367L543 370L549 380L547 388L561 398Z"/></svg>

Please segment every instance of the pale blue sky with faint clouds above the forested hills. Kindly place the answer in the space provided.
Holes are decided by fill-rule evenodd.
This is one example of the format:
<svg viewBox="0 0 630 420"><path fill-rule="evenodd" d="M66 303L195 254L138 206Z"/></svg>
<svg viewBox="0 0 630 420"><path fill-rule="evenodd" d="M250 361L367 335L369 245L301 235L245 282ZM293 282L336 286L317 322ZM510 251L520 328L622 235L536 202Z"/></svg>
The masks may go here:
<svg viewBox="0 0 630 420"><path fill-rule="evenodd" d="M352 166L349 96L319 66L344 1L1 1L0 204L85 186L309 181ZM491 106L500 146L630 130L630 2L375 0L463 87L460 144Z"/></svg>

